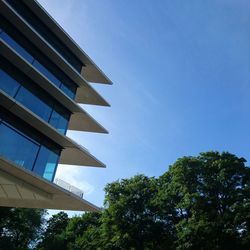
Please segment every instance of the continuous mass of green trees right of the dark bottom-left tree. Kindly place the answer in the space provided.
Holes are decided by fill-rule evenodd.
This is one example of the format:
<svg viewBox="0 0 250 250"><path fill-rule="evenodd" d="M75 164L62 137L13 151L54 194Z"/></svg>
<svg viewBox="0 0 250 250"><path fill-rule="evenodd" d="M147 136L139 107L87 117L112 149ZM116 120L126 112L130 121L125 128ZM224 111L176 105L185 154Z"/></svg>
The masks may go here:
<svg viewBox="0 0 250 250"><path fill-rule="evenodd" d="M182 157L158 178L117 180L105 193L100 213L52 216L37 249L250 249L244 158L226 152Z"/></svg>

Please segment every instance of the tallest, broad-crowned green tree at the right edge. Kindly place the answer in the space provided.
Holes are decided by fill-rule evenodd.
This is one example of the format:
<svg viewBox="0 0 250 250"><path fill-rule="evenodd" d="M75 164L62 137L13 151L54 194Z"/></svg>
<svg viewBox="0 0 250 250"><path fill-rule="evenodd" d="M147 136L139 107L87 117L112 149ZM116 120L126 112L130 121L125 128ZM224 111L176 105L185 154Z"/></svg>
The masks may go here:
<svg viewBox="0 0 250 250"><path fill-rule="evenodd" d="M160 213L173 202L177 249L250 249L250 169L207 152L183 157L160 177Z"/></svg>

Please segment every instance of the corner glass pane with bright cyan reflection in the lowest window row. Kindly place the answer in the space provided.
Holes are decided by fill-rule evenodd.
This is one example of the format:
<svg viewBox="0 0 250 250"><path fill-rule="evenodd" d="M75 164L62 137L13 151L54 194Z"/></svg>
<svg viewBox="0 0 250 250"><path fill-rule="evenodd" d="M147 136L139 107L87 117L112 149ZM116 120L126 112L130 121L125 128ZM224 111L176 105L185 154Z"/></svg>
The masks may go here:
<svg viewBox="0 0 250 250"><path fill-rule="evenodd" d="M59 150L53 151L41 146L33 171L48 181L53 181L59 155Z"/></svg>

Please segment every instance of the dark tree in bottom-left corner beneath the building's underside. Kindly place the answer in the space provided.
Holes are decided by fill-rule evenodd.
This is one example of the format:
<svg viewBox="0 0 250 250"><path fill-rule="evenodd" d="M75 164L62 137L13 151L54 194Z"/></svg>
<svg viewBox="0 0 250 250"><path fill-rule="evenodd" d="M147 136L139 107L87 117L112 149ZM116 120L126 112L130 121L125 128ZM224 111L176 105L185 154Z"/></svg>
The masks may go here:
<svg viewBox="0 0 250 250"><path fill-rule="evenodd" d="M46 210L0 208L0 249L33 248L39 239Z"/></svg>

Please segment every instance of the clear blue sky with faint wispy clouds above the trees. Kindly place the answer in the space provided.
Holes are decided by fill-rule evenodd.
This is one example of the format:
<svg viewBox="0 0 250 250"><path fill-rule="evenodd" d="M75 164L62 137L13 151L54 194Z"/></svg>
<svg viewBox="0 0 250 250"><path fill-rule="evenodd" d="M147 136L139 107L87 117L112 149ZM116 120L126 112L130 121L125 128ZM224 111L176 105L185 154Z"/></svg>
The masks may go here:
<svg viewBox="0 0 250 250"><path fill-rule="evenodd" d="M107 168L58 168L87 200L101 206L107 183L184 155L250 160L248 1L39 2L114 82L92 84L111 108L83 105L110 134L68 132Z"/></svg>

